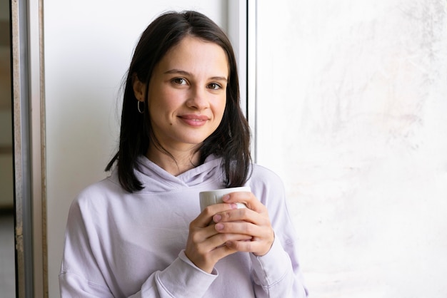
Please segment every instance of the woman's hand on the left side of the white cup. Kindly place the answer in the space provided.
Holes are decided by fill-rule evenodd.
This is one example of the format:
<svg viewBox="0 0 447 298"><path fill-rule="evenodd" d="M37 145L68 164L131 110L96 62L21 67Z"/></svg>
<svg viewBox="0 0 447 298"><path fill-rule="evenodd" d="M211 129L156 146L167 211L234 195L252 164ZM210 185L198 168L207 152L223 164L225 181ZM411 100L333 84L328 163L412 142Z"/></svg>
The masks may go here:
<svg viewBox="0 0 447 298"><path fill-rule="evenodd" d="M217 232L215 225L211 224L213 215L216 215L216 213L235 209L237 209L237 206L234 203L210 205L189 224L185 255L205 272L211 273L214 265L219 260L238 251L225 245L226 242L239 242L251 239L251 236L246 234Z"/></svg>

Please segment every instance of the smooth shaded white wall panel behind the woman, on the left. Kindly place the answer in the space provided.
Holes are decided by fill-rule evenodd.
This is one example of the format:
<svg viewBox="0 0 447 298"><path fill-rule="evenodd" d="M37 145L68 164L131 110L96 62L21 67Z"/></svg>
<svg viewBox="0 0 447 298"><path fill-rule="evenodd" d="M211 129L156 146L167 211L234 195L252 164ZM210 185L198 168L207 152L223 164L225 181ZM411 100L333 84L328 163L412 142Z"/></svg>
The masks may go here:
<svg viewBox="0 0 447 298"><path fill-rule="evenodd" d="M226 1L44 1L49 297L69 205L105 177L116 150L119 86L139 35L161 12L195 9L226 27Z"/></svg>

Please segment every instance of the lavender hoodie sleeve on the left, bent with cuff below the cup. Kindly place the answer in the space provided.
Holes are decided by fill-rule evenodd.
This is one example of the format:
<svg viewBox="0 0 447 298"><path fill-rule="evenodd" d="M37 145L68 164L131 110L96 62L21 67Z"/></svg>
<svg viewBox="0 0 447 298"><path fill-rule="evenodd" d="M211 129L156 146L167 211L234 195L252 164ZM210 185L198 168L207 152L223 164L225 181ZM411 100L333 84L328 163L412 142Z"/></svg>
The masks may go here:
<svg viewBox="0 0 447 298"><path fill-rule="evenodd" d="M59 274L61 297L126 297L114 286L113 274L101 258L107 248L91 224L94 216L81 212L86 209L75 200L69 211ZM217 276L216 270L209 274L195 267L181 251L166 269L151 272L130 297L202 297Z"/></svg>

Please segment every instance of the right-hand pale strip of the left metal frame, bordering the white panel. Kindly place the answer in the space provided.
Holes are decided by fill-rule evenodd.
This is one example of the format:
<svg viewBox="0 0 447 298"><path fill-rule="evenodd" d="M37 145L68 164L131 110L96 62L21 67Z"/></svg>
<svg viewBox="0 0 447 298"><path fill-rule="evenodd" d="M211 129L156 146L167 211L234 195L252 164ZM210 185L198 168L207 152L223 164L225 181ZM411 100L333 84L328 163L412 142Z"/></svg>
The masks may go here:
<svg viewBox="0 0 447 298"><path fill-rule="evenodd" d="M46 250L46 155L44 94L44 1L29 1L29 90L31 99L31 199L34 297L48 297Z"/></svg>

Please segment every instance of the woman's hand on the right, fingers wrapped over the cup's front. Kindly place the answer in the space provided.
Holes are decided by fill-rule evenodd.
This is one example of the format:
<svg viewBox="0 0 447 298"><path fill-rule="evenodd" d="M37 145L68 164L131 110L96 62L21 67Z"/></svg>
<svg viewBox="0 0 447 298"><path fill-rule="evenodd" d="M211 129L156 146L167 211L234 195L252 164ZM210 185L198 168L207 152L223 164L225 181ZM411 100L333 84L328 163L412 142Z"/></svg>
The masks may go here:
<svg viewBox="0 0 447 298"><path fill-rule="evenodd" d="M228 239L226 247L258 256L266 255L275 238L266 206L252 192L232 192L222 199L226 203L243 202L247 208L224 210L214 215L216 231L224 235L250 237L249 241Z"/></svg>

